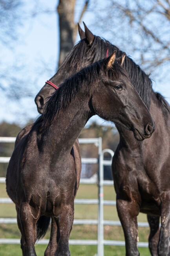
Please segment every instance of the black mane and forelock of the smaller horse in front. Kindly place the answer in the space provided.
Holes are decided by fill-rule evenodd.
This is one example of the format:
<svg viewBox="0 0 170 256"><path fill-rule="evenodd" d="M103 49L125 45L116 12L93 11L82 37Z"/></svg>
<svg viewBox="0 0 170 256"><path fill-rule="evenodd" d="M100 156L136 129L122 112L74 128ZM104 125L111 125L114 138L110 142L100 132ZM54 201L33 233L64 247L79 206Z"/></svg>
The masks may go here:
<svg viewBox="0 0 170 256"><path fill-rule="evenodd" d="M46 129L57 119L58 115L60 114L60 110L68 107L78 92L79 97L81 97L82 100L84 100L86 96L90 98L97 85L99 72L101 70L110 79L118 79L120 74L123 74L126 76L126 78L128 78L126 71L119 64L117 64L117 62L115 62L112 68L108 69L107 71L104 70L105 65L103 65L103 62L106 62L106 60L99 60L94 64L85 67L72 77L66 79L64 83L59 86L56 92L49 98L44 109L44 113L38 118L35 124L40 123L41 127Z"/></svg>

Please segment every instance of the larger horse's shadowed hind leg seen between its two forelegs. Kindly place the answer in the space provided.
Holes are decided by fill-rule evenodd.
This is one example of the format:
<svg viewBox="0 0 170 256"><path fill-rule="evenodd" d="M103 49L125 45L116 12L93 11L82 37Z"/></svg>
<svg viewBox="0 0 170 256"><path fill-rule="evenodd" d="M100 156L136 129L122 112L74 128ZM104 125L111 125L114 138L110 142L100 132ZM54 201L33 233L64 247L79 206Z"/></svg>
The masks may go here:
<svg viewBox="0 0 170 256"><path fill-rule="evenodd" d="M150 225L149 249L152 256L158 256L159 243L159 216L147 215Z"/></svg>

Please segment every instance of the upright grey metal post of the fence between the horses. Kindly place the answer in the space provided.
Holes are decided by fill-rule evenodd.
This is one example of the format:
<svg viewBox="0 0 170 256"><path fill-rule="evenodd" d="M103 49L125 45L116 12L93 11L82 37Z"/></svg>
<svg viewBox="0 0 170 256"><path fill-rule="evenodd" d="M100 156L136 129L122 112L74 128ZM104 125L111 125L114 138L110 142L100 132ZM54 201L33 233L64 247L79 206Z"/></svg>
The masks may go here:
<svg viewBox="0 0 170 256"><path fill-rule="evenodd" d="M104 256L104 231L103 231L103 154L102 138L99 138L99 206L98 206L98 256Z"/></svg>

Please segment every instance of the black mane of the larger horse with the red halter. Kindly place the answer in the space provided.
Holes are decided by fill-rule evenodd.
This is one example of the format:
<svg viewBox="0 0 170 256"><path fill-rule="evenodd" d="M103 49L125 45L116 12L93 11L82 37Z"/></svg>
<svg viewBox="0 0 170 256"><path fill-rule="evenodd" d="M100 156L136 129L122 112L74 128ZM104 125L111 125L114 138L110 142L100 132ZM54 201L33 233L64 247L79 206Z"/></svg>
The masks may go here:
<svg viewBox="0 0 170 256"><path fill-rule="evenodd" d="M89 45L86 40L87 39L85 38L79 41L79 43L73 47L60 68L69 70L69 73L73 74L83 67L86 67L88 63L94 63L97 60L106 58L107 52L109 56L116 50L117 57L121 56L123 53L115 45L112 45L109 41L106 41L99 36L94 37L91 45ZM128 73L133 86L143 99L145 105L150 108L151 94L153 91L152 80L139 65L135 64L135 62L128 56L125 58L123 67Z"/></svg>

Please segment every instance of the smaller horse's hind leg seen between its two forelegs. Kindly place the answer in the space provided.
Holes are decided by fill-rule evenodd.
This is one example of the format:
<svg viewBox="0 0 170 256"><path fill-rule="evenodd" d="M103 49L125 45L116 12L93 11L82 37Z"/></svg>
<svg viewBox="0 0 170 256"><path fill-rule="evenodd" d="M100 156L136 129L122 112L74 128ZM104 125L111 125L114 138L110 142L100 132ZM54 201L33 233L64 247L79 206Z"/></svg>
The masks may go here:
<svg viewBox="0 0 170 256"><path fill-rule="evenodd" d="M57 224L54 218L51 218L51 234L48 243L48 247L44 253L44 256L54 256L57 250Z"/></svg>

